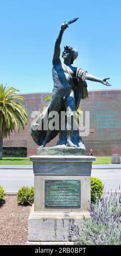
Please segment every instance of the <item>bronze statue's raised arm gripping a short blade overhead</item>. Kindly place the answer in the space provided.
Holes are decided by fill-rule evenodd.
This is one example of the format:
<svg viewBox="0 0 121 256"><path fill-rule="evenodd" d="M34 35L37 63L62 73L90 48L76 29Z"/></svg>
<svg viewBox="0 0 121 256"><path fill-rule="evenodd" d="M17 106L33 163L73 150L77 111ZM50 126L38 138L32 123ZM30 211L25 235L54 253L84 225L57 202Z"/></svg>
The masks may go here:
<svg viewBox="0 0 121 256"><path fill-rule="evenodd" d="M61 40L62 40L62 35L63 35L63 32L65 31L65 29L67 27L68 27L68 25L67 25L66 21L64 23L62 23L59 36L58 36L58 38L56 39L56 42L55 42L53 64L59 61L59 58L60 58L60 44L61 44Z"/></svg>

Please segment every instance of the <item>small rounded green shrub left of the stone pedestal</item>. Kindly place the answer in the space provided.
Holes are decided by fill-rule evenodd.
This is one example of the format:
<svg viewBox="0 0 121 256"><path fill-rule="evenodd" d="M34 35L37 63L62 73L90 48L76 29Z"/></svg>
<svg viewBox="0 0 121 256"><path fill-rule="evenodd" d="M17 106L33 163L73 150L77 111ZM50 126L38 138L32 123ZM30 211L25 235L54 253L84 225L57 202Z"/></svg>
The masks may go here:
<svg viewBox="0 0 121 256"><path fill-rule="evenodd" d="M17 192L17 202L22 205L32 205L34 203L34 187L21 187Z"/></svg>

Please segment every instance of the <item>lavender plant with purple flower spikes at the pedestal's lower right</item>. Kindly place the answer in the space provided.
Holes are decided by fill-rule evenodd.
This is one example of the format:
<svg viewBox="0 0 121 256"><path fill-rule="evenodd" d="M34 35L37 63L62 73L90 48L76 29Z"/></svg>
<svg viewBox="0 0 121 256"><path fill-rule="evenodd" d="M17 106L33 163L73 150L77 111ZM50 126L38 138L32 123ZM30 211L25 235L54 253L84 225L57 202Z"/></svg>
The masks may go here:
<svg viewBox="0 0 121 256"><path fill-rule="evenodd" d="M91 204L91 218L84 218L81 228L72 227L78 245L121 245L121 194L101 197Z"/></svg>

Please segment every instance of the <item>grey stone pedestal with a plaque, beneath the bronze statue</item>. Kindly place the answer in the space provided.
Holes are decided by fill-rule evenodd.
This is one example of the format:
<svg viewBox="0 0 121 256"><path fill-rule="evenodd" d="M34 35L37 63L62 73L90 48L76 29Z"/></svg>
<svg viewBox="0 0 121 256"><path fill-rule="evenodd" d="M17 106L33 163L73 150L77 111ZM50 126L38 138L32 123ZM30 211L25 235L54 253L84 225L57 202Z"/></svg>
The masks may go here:
<svg viewBox="0 0 121 256"><path fill-rule="evenodd" d="M30 156L30 160L33 161L35 198L29 215L28 240L41 244L68 242L71 227L80 226L84 216L90 217L90 176L95 157L36 155ZM51 184L54 185L51 187Z"/></svg>

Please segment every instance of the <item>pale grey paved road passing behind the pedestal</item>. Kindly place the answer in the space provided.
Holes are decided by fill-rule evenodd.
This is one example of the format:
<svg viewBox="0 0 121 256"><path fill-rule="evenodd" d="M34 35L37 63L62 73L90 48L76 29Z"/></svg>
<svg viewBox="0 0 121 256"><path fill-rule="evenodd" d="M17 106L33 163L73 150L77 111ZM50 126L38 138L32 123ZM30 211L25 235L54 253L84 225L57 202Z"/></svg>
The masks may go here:
<svg viewBox="0 0 121 256"><path fill-rule="evenodd" d="M119 191L121 188L121 168L119 165L114 168L109 165L103 168L102 165L93 166L92 176L95 176L103 181L106 191ZM18 166L20 167L20 166ZM110 168L109 168L110 167ZM10 169L11 168L11 169ZM95 169L96 168L96 169ZM32 166L21 166L20 169L11 166L0 167L0 184L5 191L18 191L22 186L34 185L34 174Z"/></svg>

